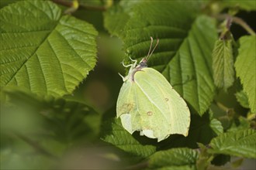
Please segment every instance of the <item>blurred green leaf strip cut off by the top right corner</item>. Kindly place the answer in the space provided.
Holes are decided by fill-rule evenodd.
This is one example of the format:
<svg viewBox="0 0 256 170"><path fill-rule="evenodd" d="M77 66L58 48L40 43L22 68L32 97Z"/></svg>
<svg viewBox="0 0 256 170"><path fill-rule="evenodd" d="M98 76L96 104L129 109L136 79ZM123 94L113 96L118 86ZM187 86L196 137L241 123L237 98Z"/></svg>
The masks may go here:
<svg viewBox="0 0 256 170"><path fill-rule="evenodd" d="M256 2L251 0L223 0L220 1L220 6L222 6L223 8L240 8L246 11L256 10Z"/></svg>

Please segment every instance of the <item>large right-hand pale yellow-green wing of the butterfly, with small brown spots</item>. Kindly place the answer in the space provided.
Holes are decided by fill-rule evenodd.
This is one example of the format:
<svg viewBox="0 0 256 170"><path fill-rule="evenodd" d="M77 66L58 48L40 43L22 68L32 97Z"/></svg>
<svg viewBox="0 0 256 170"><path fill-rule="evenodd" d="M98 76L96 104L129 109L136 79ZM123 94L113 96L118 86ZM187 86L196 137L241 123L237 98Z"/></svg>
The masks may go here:
<svg viewBox="0 0 256 170"><path fill-rule="evenodd" d="M142 132L158 141L170 134L188 135L189 107L171 87L164 76L152 68L144 68L134 75L137 85L138 110ZM152 135L153 134L153 135Z"/></svg>

